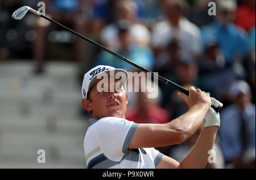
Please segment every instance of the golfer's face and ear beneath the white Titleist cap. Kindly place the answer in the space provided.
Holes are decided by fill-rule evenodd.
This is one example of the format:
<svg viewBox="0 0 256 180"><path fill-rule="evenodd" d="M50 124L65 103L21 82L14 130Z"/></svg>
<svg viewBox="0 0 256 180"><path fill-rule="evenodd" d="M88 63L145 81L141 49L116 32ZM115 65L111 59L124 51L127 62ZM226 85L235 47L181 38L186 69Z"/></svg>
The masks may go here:
<svg viewBox="0 0 256 180"><path fill-rule="evenodd" d="M94 118L101 119L113 116L125 119L128 97L126 90L122 85L114 88L118 80L119 79L115 79L114 82L110 83L108 78L108 88L105 87L104 90L98 91L97 83L101 81L99 80L93 85L90 93L88 94L91 101L88 99L82 99L82 105L86 110L92 111ZM104 87L103 85L104 84L101 86L102 88ZM115 89L114 92L110 92L110 87Z"/></svg>

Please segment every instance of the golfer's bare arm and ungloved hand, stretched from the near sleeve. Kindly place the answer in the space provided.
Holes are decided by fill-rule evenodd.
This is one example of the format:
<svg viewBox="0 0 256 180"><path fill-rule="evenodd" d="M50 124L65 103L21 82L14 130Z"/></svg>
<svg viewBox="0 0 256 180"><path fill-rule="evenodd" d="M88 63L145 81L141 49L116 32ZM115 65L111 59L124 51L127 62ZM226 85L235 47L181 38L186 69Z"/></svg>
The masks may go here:
<svg viewBox="0 0 256 180"><path fill-rule="evenodd" d="M210 96L194 87L189 89L189 96L179 95L191 107L188 112L166 124L139 124L131 137L129 149L180 144L196 132L210 108Z"/></svg>

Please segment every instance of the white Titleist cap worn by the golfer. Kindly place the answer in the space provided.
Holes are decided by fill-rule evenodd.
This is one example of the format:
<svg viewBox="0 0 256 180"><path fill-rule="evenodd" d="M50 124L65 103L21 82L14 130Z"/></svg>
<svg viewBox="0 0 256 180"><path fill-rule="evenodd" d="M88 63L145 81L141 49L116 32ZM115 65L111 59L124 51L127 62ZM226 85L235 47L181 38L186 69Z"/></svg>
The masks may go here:
<svg viewBox="0 0 256 180"><path fill-rule="evenodd" d="M105 65L98 65L93 69L90 69L87 73L85 73L84 80L82 81L82 98L87 99L88 92L93 87L94 83L100 79L97 79L97 77L101 77L103 73L107 73L109 77L112 76L112 74L115 76L115 74L118 72L122 72L122 74L126 76L125 79L121 78L122 83L125 84L128 78L128 73L126 70L115 69L112 66Z"/></svg>

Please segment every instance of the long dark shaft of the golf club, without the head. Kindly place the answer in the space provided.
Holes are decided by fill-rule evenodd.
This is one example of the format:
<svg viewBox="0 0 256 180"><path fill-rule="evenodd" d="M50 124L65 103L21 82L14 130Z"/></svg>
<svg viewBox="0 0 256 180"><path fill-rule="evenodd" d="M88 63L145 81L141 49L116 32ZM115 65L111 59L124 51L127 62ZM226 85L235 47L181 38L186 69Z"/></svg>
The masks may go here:
<svg viewBox="0 0 256 180"><path fill-rule="evenodd" d="M156 73L154 73L154 72L151 72L150 70L148 70L148 69L146 69L146 68L143 68L142 66L136 64L135 62L130 61L130 60L128 60L127 58L125 58L125 57L123 57L123 56L121 56L121 55L118 55L117 53L111 51L110 49L104 47L103 45L100 45L100 44L94 42L93 40L90 40L89 38L87 38L87 37L85 37L85 36L82 36L81 34L77 33L76 31L73 31L73 30L71 30L70 28L63 26L62 24L56 22L55 20L52 20L51 18L48 18L47 16L45 16L45 15L43 15L43 14L40 14L39 16L41 16L41 17L44 18L44 19L49 20L50 22L56 24L57 26L60 26L60 27L64 28L65 30L71 32L72 34L81 37L82 39L88 41L89 43L92 43L92 44L96 45L97 47L101 48L102 50L104 50L104 51L106 51L106 52L112 54L113 56L115 56L115 57L117 57L117 58L120 58L121 60L123 60L123 61L125 61L125 62L127 62L127 63L129 63L129 64L131 64L131 65L133 65L133 66L135 66L136 68L141 69L141 70L143 70L144 72L150 72L152 77L157 77L158 79L160 79L160 81L166 83L166 85L170 85L170 86L172 86L172 87L175 87L175 89L179 90L181 93L184 93L184 94L186 94L186 95L189 95L189 91L188 91L187 89L185 89L184 87L182 87L182 86L180 86L180 85L177 85L176 83L174 83L174 82L172 82L172 81L170 81L170 80L168 80L168 79L166 79L166 78L163 78L162 76L159 76L158 74L156 74ZM212 106L212 107L213 107L213 106ZM220 111L221 111L221 108L216 108L216 107L213 107L213 108L214 108L214 110L215 110L216 112L220 112Z"/></svg>

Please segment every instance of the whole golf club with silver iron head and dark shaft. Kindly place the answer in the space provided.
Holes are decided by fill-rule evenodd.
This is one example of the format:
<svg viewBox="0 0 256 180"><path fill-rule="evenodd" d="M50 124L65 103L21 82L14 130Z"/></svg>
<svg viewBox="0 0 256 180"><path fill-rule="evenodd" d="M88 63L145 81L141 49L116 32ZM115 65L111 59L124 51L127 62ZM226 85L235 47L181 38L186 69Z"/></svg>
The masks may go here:
<svg viewBox="0 0 256 180"><path fill-rule="evenodd" d="M60 26L61 28L64 28L65 30L71 32L72 34L81 37L82 39L88 41L89 43L92 43L92 44L96 45L97 47L101 48L102 50L104 50L104 51L106 51L106 52L112 54L113 56L115 56L115 57L117 57L117 58L120 58L121 60L123 60L123 61L125 61L125 62L127 62L127 63L129 63L129 64L131 64L131 65L133 65L133 66L135 66L136 68L141 69L141 70L143 70L144 72L149 72L149 73L151 73L151 76L152 76L152 77L157 77L158 79L160 79L160 81L166 83L166 85L170 85L170 86L174 87L175 89L179 90L181 93L184 93L184 94L186 94L186 95L189 95L189 91L188 91L187 89L185 89L184 87L182 87L182 86L180 86L180 85L177 85L176 83L174 83L174 82L172 82L172 81L170 81L170 80L168 80L168 79L166 79L166 78L163 78L162 76L159 76L158 74L156 74L156 73L154 73L154 72L151 72L150 70L148 70L148 69L146 69L146 68L143 68L142 66L136 64L136 63L133 62L133 61L128 60L127 58L125 58L125 57L123 57L123 56L121 56L121 55L118 55L117 53L111 51L110 49L108 49L108 48L106 48L106 47L104 47L104 46L102 46L102 45L100 45L100 44L98 44L98 43L96 43L96 42L94 42L93 40L90 40L90 39L88 39L87 37L82 36L81 34L77 33L76 31L73 31L73 30L69 29L68 27L65 27L65 26L63 26L62 24L56 22L55 20L52 20L51 18L48 18L47 16L45 16L45 15L43 15L42 13L40 13L40 12L38 12L38 11L32 9L31 7L28 7L28 6L22 6L22 7L20 7L18 10L16 10L16 11L13 12L12 17L13 17L13 19L15 19L15 20L21 20L21 19L27 14L28 11L32 12L33 14L35 14L35 15L37 15L37 16L40 16L40 17L42 17L42 18L44 18L44 19L49 20L50 22L56 24L57 26ZM214 108L214 110L215 110L216 112L220 112L220 111L221 111L221 107L218 107L218 108L216 108L216 107L214 107L214 106L212 106L212 107Z"/></svg>

